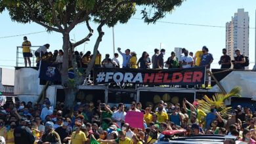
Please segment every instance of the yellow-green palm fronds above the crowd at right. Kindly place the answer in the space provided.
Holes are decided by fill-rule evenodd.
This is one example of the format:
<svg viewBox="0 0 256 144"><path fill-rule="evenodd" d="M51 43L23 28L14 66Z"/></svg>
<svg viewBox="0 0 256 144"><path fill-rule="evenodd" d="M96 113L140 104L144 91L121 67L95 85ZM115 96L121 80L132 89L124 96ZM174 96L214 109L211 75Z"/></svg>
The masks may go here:
<svg viewBox="0 0 256 144"><path fill-rule="evenodd" d="M226 107L224 100L230 97L240 98L240 94L241 88L236 86L228 94L219 93L215 94L215 96L212 98L205 95L202 99L197 100L199 103L199 109L202 109L205 113L209 113L211 105L215 105L217 111L221 112L221 115L226 115L232 109L232 107Z"/></svg>

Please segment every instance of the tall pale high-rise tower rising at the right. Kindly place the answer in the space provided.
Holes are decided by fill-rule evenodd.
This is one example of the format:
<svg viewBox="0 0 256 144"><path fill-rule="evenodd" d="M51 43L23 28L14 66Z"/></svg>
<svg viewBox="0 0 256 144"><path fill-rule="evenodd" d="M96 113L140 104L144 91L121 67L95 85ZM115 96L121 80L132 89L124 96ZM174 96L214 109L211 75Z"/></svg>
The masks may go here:
<svg viewBox="0 0 256 144"><path fill-rule="evenodd" d="M244 9L238 9L232 20L226 23L226 49L233 59L236 48L245 56L249 56L249 14Z"/></svg>

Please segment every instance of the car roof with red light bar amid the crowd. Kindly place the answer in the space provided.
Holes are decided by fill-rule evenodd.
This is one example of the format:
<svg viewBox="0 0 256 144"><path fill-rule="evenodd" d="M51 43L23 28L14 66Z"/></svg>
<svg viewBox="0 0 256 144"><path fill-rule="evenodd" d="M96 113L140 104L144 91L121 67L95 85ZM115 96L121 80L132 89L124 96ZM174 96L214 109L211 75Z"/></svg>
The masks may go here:
<svg viewBox="0 0 256 144"><path fill-rule="evenodd" d="M237 140L237 137L230 135L191 135L185 136L186 130L166 130L161 133L163 135L156 143L179 143L179 144L223 144L225 139Z"/></svg>

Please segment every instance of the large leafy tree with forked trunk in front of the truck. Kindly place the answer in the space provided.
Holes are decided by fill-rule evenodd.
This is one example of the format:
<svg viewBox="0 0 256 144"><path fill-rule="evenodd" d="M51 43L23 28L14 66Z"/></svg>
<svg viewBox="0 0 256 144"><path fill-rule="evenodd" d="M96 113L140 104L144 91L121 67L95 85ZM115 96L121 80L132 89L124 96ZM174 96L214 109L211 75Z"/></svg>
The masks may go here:
<svg viewBox="0 0 256 144"><path fill-rule="evenodd" d="M0 0L0 12L7 9L11 19L27 24L35 22L48 31L62 33L64 50L62 63L62 86L66 94L65 101L68 107L72 107L75 92L84 77L77 75L74 61L74 47L90 40L93 29L90 22L98 24L98 37L93 49L93 58L86 69L89 75L95 63L96 52L104 32L103 26L113 27L117 22L125 24L135 14L136 7L145 7L141 11L144 22L156 23L175 7L181 5L184 0ZM152 14L151 14L152 12ZM154 12L154 13L153 13ZM85 22L89 33L84 39L76 43L70 43L69 33L77 24ZM70 59L75 72L75 84L68 81L68 66Z"/></svg>

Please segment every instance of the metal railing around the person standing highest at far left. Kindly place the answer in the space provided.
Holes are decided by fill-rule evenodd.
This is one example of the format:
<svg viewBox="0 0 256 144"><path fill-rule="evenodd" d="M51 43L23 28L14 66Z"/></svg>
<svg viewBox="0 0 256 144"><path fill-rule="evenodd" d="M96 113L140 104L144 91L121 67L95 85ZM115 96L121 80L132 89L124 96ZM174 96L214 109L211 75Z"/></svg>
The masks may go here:
<svg viewBox="0 0 256 144"><path fill-rule="evenodd" d="M33 54L33 56L30 57L32 67L36 66L35 50L37 50L37 48L39 47L40 46L30 46L30 52ZM24 66L25 66L25 63L23 58L22 46L17 46L16 47L16 67L24 67Z"/></svg>

